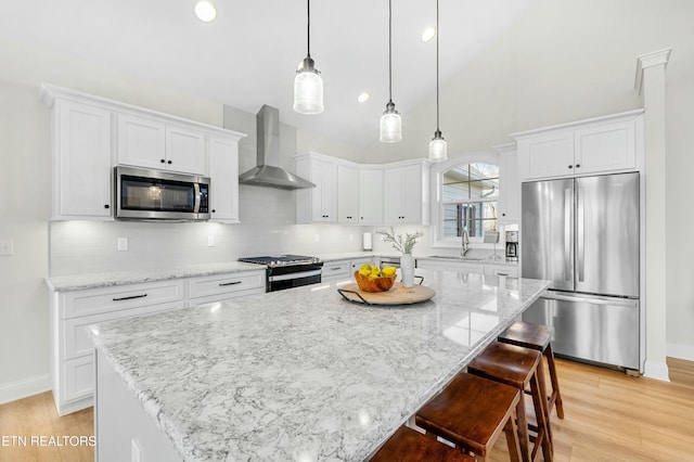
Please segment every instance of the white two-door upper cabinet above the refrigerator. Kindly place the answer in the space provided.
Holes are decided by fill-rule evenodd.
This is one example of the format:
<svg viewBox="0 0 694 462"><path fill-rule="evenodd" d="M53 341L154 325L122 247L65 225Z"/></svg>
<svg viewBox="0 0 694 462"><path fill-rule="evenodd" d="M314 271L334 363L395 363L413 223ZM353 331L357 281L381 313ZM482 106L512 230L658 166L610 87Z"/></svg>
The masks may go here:
<svg viewBox="0 0 694 462"><path fill-rule="evenodd" d="M643 111L515 133L523 181L639 167Z"/></svg>

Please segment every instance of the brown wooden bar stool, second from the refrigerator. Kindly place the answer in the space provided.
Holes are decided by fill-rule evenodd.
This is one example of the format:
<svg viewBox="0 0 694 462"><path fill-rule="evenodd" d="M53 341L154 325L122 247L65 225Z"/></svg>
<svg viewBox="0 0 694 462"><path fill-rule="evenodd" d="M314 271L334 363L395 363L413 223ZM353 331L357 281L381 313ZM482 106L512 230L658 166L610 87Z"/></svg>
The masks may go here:
<svg viewBox="0 0 694 462"><path fill-rule="evenodd" d="M541 447L544 461L551 462L553 460L552 431L547 410L542 354L529 348L493 342L467 364L467 372L510 385L522 394L523 399L518 402L516 414L524 460L535 460ZM528 434L529 426L525 412L524 397L528 386L538 422L537 426L530 427L537 432L532 438ZM530 442L535 442L532 450L530 450Z"/></svg>

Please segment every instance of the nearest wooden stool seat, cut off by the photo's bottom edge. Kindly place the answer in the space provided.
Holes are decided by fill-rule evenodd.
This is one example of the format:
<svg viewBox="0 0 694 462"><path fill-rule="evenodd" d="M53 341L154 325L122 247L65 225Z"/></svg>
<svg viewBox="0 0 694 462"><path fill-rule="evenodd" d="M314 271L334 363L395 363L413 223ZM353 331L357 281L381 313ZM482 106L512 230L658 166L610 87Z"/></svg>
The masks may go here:
<svg viewBox="0 0 694 462"><path fill-rule="evenodd" d="M372 462L475 462L475 458L401 426L370 459Z"/></svg>

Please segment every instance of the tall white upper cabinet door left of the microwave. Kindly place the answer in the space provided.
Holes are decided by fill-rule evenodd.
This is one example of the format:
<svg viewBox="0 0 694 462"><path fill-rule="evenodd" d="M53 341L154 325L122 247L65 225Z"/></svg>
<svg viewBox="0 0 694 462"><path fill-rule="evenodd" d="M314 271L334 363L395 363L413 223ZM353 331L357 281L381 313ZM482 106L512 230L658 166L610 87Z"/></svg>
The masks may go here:
<svg viewBox="0 0 694 462"><path fill-rule="evenodd" d="M111 112L56 100L53 219L111 217Z"/></svg>

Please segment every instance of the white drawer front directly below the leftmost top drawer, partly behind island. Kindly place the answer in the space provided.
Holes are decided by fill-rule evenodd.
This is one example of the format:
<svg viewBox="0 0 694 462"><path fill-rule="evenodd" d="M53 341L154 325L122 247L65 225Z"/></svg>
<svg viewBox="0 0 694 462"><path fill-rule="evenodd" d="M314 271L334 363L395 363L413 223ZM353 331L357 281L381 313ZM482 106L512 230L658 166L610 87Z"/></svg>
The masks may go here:
<svg viewBox="0 0 694 462"><path fill-rule="evenodd" d="M174 304L153 305L65 320L63 322L63 357L65 359L73 359L92 354L92 342L85 332L85 329L90 324L113 321L115 319L132 318L134 316L152 315L160 311L169 311L172 309L183 308L183 301L175 301Z"/></svg>

